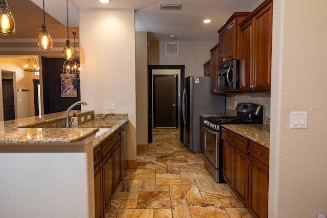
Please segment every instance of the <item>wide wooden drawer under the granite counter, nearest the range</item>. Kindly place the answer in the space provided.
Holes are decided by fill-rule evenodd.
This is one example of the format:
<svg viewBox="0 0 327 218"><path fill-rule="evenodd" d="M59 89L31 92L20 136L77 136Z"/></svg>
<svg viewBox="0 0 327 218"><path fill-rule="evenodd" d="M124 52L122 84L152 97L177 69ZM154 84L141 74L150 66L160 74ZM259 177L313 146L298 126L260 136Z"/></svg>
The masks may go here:
<svg viewBox="0 0 327 218"><path fill-rule="evenodd" d="M221 138L232 144L235 148L242 151L243 153L248 153L248 139L224 128L221 129Z"/></svg>

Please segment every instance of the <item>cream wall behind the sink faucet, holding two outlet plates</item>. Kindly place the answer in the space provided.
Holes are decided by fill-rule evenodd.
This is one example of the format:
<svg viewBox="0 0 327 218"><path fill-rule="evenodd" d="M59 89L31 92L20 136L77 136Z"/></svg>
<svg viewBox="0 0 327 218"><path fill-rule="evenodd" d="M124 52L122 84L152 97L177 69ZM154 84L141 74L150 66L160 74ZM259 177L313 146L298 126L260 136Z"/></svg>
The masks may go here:
<svg viewBox="0 0 327 218"><path fill-rule="evenodd" d="M82 109L128 113L128 160L136 160L134 10L80 10ZM107 110L114 102L115 110Z"/></svg>

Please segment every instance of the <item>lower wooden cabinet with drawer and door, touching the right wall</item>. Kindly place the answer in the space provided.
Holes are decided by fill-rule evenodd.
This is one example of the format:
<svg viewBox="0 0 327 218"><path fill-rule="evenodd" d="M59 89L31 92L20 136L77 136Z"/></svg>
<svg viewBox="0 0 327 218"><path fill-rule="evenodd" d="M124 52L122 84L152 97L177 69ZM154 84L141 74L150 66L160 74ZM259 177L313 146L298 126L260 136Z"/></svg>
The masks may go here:
<svg viewBox="0 0 327 218"><path fill-rule="evenodd" d="M250 141L249 205L255 217L268 217L269 149Z"/></svg>

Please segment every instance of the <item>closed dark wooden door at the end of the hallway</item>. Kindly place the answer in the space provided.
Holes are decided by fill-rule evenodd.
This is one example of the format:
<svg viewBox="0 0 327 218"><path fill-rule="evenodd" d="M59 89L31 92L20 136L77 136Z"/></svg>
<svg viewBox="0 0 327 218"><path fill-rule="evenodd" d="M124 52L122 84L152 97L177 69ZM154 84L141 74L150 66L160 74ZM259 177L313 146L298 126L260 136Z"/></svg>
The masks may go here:
<svg viewBox="0 0 327 218"><path fill-rule="evenodd" d="M178 128L178 75L153 75L154 128Z"/></svg>

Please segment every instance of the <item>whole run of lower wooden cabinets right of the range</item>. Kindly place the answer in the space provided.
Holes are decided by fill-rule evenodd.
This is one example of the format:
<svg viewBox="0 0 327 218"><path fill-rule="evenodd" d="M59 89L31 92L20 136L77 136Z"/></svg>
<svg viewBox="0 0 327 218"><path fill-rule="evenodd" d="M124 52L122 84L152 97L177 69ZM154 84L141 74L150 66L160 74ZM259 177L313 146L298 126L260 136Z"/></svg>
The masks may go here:
<svg viewBox="0 0 327 218"><path fill-rule="evenodd" d="M268 217L269 149L221 128L223 178L254 217Z"/></svg>

